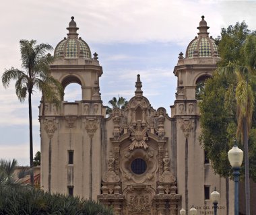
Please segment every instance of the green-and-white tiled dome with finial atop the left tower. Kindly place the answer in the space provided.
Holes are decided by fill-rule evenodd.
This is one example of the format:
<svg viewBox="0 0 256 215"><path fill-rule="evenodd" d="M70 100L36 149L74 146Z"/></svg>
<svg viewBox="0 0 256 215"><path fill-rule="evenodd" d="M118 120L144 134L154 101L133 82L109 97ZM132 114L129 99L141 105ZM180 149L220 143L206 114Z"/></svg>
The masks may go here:
<svg viewBox="0 0 256 215"><path fill-rule="evenodd" d="M74 17L72 16L69 28L67 28L69 30L67 38L57 44L54 54L59 58L92 58L88 44L82 38L78 38L76 31L79 28L76 27L73 19Z"/></svg>

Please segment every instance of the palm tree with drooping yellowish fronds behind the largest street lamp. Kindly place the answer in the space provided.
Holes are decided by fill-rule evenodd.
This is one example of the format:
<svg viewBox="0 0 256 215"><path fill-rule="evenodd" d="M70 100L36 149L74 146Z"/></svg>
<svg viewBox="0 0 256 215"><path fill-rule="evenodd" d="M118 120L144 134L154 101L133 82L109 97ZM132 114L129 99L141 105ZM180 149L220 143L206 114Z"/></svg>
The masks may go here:
<svg viewBox="0 0 256 215"><path fill-rule="evenodd" d="M217 73L235 79L235 84L230 85L229 91L234 91L236 99L237 128L236 137L241 137L245 147L245 198L246 211L250 214L250 183L249 183L249 152L248 136L251 129L255 97L252 83L255 83L256 73L256 36L247 36L242 47L244 62L229 62L227 67L219 67ZM232 93L228 93L232 95ZM228 98L230 99L230 98Z"/></svg>

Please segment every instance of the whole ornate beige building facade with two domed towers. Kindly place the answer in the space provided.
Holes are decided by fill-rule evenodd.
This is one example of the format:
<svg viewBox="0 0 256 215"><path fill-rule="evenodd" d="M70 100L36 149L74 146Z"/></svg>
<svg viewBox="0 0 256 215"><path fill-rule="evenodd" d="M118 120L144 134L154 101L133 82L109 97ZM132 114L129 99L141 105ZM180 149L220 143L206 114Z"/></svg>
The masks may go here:
<svg viewBox="0 0 256 215"><path fill-rule="evenodd" d="M40 105L42 189L99 200L120 215L177 215L192 205L197 214L213 214L210 193L216 186L218 214L233 214L233 186L214 174L198 140L197 85L219 60L204 17L174 68L178 84L171 116L150 105L137 75L134 97L108 118L100 97L102 67L71 18L67 38L55 48L51 74L63 87L81 85L82 100L63 101L60 108L47 103L44 114Z"/></svg>

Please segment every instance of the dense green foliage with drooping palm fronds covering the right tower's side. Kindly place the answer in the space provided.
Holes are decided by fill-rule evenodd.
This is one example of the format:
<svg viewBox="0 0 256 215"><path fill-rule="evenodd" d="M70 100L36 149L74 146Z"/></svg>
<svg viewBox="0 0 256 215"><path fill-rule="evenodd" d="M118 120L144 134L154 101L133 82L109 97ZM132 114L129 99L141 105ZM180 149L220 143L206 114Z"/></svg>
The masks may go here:
<svg viewBox="0 0 256 215"><path fill-rule="evenodd" d="M231 173L227 153L238 138L241 148L243 124L249 133L250 176L256 181L255 151L255 69L256 36L245 22L222 29L218 38L220 56L214 77L205 83L201 112L200 141L212 161L216 173L226 177ZM251 132L250 132L251 129ZM246 148L245 148L246 149ZM247 156L247 155L245 155Z"/></svg>

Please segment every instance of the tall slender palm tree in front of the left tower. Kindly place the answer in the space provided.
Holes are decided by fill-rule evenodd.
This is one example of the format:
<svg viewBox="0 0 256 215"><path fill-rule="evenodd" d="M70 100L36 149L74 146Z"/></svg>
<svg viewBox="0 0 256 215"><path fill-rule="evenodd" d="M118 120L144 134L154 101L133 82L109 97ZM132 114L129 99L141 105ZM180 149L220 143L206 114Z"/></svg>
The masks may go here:
<svg viewBox="0 0 256 215"><path fill-rule="evenodd" d="M53 50L49 44L36 45L36 40L20 40L20 52L22 54L22 68L5 69L2 76L3 86L9 87L11 80L15 80L16 95L21 102L28 97L28 115L30 130L30 167L33 167L33 136L32 136L32 103L31 96L34 89L42 92L42 101L54 101L57 103L63 95L63 88L59 81L49 73L49 64L54 60L47 51ZM33 171L30 174L30 181L34 184Z"/></svg>

